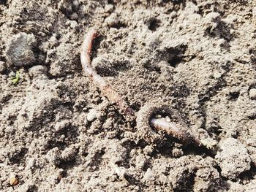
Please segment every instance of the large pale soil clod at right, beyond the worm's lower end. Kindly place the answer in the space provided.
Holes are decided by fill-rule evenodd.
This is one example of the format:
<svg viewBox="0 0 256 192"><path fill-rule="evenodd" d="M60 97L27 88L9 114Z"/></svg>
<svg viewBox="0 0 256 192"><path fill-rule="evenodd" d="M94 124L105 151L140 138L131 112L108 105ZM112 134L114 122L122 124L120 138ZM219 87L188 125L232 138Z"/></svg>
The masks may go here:
<svg viewBox="0 0 256 192"><path fill-rule="evenodd" d="M219 143L220 151L216 159L222 169L222 176L234 180L242 172L251 168L251 158L246 147L237 139L228 138Z"/></svg>

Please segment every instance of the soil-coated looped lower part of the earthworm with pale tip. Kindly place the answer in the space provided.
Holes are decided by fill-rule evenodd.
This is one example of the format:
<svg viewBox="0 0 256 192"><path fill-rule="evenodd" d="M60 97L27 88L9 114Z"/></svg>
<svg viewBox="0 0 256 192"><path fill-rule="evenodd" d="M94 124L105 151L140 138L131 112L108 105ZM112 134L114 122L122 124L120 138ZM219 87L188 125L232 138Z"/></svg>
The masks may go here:
<svg viewBox="0 0 256 192"><path fill-rule="evenodd" d="M168 116L172 122L156 115ZM137 114L138 133L149 143L158 143L168 134L180 140L184 145L201 146L199 139L189 133L187 123L177 110L170 109L165 104L145 104ZM153 130L151 127L154 127Z"/></svg>

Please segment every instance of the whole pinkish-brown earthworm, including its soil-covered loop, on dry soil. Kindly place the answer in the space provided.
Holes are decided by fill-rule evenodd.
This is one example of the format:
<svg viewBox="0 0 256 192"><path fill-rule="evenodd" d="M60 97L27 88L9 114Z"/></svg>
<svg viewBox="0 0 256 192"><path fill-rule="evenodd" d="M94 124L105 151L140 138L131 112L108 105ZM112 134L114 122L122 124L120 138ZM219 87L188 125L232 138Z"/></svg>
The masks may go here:
<svg viewBox="0 0 256 192"><path fill-rule="evenodd" d="M107 82L103 77L101 77L94 69L91 67L91 47L94 38L97 37L97 31L95 29L89 30L83 41L81 50L81 64L83 65L83 70L89 75L91 81L94 82L102 91L102 94L106 96L110 101L113 101L124 112L125 115L134 116L135 112L127 104L124 99L117 93L117 91ZM148 107L149 106L149 107ZM167 122L164 119L157 119L154 115L159 115L159 113L166 113L171 115L176 120L176 123ZM170 110L169 107L154 106L152 104L145 105L137 114L137 123L139 132L143 132L143 137L148 142L156 142L157 139L162 139L162 135L157 133L157 131L164 132L173 137L179 139L184 145L194 144L200 146L200 141L196 139L192 134L187 131L185 123L178 116L178 112ZM154 131L151 126L153 126L157 131ZM184 128L186 127L186 128Z"/></svg>

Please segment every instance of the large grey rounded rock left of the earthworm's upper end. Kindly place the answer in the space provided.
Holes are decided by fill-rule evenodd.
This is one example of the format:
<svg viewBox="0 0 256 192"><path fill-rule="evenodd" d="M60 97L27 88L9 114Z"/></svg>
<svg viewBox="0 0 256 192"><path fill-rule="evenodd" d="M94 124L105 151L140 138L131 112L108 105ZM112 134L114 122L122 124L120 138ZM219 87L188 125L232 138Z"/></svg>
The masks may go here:
<svg viewBox="0 0 256 192"><path fill-rule="evenodd" d="M26 66L34 63L34 47L36 39L33 34L19 33L7 42L6 57L9 64Z"/></svg>

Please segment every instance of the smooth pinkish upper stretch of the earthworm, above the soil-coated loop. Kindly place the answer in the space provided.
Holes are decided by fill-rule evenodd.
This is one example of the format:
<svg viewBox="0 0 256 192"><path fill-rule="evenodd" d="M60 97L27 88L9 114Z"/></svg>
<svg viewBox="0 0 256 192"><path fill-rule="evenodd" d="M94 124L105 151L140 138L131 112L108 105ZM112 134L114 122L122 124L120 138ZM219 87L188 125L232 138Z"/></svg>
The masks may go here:
<svg viewBox="0 0 256 192"><path fill-rule="evenodd" d="M103 77L101 77L94 69L91 67L91 47L93 44L93 40L97 37L97 31L95 29L89 30L86 34L86 37L83 41L82 50L80 54L81 64L83 66L83 70L86 74L89 75L92 82L97 85L97 87L102 91L104 96L107 96L108 99L116 104L121 109L121 112L124 112L125 115L133 115L133 110L128 107L128 104L121 96L117 93L117 91L107 82Z"/></svg>

